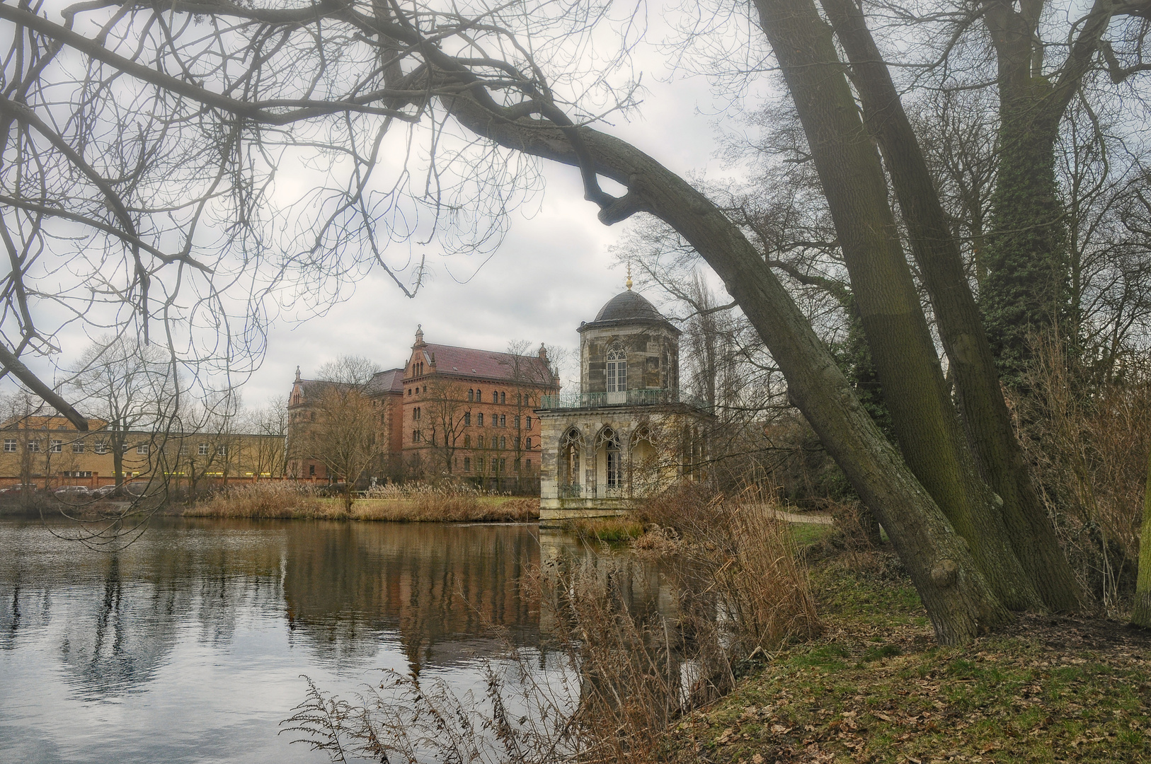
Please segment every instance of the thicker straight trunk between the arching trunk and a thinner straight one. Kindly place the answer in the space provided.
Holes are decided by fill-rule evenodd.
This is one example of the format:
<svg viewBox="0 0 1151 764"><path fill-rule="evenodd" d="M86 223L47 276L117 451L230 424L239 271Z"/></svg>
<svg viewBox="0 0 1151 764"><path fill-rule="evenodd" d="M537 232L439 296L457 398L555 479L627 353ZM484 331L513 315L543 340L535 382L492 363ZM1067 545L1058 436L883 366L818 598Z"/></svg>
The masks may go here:
<svg viewBox="0 0 1151 764"><path fill-rule="evenodd" d="M756 0L836 224L895 437L1012 609L1042 604L976 472L904 255L887 183L813 0Z"/></svg>

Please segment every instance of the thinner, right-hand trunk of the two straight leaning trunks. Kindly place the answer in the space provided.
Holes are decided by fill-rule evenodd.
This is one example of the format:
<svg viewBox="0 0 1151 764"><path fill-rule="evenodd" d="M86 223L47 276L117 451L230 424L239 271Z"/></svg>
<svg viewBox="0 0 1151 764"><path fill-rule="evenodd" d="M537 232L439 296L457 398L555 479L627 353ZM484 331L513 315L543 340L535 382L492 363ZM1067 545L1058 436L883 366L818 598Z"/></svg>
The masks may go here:
<svg viewBox="0 0 1151 764"><path fill-rule="evenodd" d="M886 160L912 251L935 306L967 441L984 479L1003 498L1012 549L1049 608L1075 609L1075 576L1015 438L959 245L891 74L859 7L851 0L821 1L852 63L868 130Z"/></svg>

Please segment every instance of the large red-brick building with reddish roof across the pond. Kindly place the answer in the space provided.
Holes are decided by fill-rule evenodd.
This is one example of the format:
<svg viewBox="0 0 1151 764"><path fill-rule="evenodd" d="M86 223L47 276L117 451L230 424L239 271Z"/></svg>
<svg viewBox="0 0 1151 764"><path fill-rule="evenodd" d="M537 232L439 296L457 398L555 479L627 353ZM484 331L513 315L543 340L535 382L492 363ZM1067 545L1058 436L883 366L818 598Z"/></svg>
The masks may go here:
<svg viewBox="0 0 1151 764"><path fill-rule="evenodd" d="M322 420L323 390L337 383L304 380L289 398L289 444L306 442ZM533 490L540 474L542 397L558 391L543 346L519 356L425 342L418 329L407 361L376 374L365 387L380 444L366 476L420 480L445 475L486 488ZM290 448L289 475L338 480L320 454Z"/></svg>

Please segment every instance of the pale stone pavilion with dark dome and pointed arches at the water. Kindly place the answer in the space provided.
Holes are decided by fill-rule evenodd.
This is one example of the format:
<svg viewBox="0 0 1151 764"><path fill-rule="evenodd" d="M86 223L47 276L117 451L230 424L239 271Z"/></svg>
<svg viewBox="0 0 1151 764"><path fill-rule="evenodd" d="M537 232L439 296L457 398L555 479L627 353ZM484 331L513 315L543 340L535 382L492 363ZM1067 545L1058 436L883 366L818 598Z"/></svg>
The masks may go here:
<svg viewBox="0 0 1151 764"><path fill-rule="evenodd" d="M704 478L712 415L679 392L680 331L639 292L579 326L580 387L544 396L540 521L620 514Z"/></svg>

